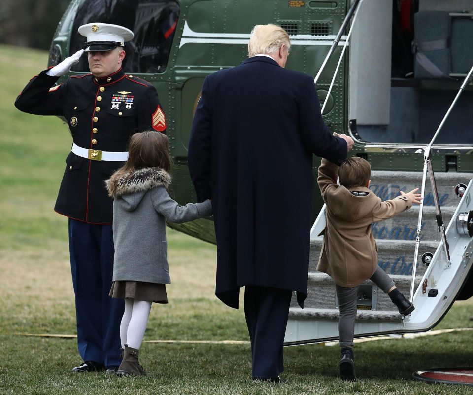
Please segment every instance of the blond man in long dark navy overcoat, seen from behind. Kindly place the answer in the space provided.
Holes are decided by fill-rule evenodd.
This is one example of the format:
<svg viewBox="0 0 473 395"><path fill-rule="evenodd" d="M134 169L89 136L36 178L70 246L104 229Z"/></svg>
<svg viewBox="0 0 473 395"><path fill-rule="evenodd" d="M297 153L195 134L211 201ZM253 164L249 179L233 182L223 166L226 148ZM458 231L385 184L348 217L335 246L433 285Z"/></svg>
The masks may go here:
<svg viewBox="0 0 473 395"><path fill-rule="evenodd" d="M258 25L249 59L205 78L189 142L199 201L212 200L216 295L244 309L253 378L279 382L291 291L307 296L312 155L336 163L353 140L322 120L312 78L284 69L289 36Z"/></svg>

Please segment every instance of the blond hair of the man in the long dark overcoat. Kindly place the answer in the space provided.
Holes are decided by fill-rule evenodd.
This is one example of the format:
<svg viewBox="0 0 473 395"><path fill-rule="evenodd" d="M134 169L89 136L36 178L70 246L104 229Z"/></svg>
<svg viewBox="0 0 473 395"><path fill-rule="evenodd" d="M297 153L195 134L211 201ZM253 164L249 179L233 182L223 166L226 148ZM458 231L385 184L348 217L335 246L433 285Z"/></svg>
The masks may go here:
<svg viewBox="0 0 473 395"><path fill-rule="evenodd" d="M278 25L256 25L250 33L248 42L248 57L259 53L270 54L276 52L281 45L289 51L291 41L287 32Z"/></svg>

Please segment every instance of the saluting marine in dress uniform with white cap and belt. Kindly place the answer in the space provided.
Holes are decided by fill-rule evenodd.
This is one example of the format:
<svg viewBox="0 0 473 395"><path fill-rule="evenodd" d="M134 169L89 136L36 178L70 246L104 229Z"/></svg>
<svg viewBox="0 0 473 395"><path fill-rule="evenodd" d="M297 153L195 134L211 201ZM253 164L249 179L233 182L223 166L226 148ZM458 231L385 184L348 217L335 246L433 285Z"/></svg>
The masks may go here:
<svg viewBox="0 0 473 395"><path fill-rule="evenodd" d="M113 272L112 205L104 181L128 158L130 136L166 122L156 89L125 74L124 42L133 32L118 25L90 23L79 27L87 37L90 74L59 77L78 63L77 51L57 66L33 77L15 101L21 111L63 116L73 144L55 211L69 217L69 251L75 293L77 345L84 363L74 372L120 365L123 300L108 296Z"/></svg>

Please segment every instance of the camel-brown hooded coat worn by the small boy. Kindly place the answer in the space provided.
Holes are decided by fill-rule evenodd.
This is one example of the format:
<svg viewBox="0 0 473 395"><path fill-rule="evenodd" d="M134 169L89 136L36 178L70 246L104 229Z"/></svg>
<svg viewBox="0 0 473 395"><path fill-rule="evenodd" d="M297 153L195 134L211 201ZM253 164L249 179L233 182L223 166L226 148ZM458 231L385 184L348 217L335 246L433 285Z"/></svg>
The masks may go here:
<svg viewBox="0 0 473 395"><path fill-rule="evenodd" d="M327 221L320 233L324 243L317 270L329 274L338 286L353 288L368 280L378 264L372 223L402 213L412 202L403 196L383 202L364 186L350 189L368 195L354 196L337 184L337 175L338 166L322 159L317 183L327 206Z"/></svg>

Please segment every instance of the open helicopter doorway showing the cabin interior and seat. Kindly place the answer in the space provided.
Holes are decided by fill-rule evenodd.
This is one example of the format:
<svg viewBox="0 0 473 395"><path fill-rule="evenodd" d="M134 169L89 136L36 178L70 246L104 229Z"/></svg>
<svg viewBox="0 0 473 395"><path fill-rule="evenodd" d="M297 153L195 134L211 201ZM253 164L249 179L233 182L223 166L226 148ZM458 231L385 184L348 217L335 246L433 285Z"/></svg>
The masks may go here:
<svg viewBox="0 0 473 395"><path fill-rule="evenodd" d="M473 64L472 13L461 6L466 3L473 7L471 0L361 4L350 41L348 106L362 140L416 145L431 140ZM472 106L473 90L467 87L436 144L472 145Z"/></svg>

